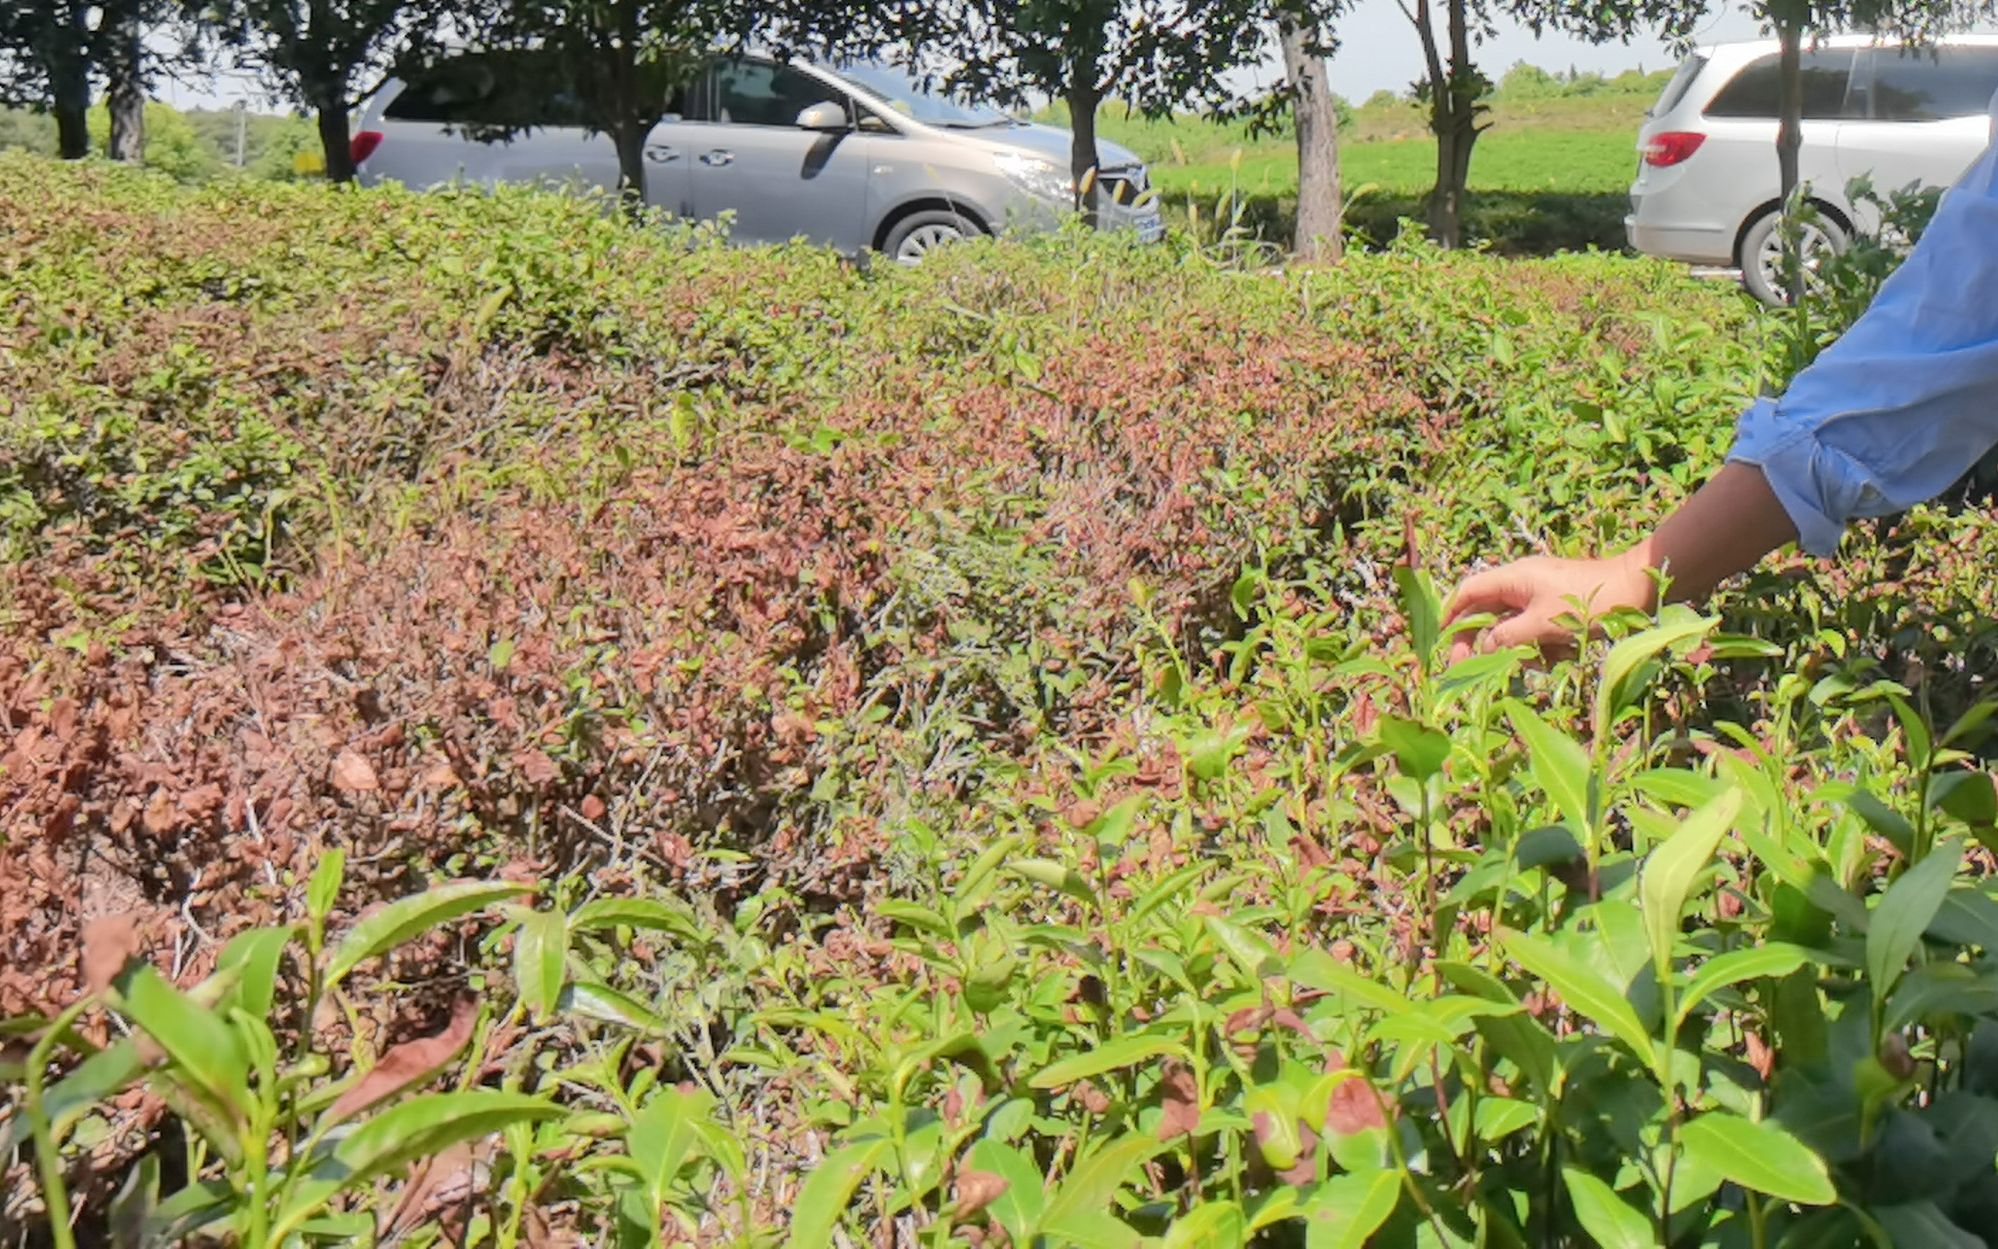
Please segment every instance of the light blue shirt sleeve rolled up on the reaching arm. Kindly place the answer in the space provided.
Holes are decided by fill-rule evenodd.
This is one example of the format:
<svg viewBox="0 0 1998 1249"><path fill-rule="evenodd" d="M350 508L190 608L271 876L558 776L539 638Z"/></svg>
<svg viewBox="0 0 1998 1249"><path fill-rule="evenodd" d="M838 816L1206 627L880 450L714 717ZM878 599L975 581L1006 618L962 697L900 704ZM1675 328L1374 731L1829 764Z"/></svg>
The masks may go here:
<svg viewBox="0 0 1998 1249"><path fill-rule="evenodd" d="M1864 316L1782 398L1742 414L1728 460L1760 466L1798 544L1828 556L1848 520L1942 494L1992 446L1998 144L1942 196Z"/></svg>

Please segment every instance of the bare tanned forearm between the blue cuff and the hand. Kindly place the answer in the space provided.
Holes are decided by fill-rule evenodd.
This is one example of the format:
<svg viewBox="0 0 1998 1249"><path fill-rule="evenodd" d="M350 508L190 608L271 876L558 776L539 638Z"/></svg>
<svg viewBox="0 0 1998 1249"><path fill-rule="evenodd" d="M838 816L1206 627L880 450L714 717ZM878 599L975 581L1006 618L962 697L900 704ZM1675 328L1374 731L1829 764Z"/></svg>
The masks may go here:
<svg viewBox="0 0 1998 1249"><path fill-rule="evenodd" d="M1652 572L1668 578L1668 600L1684 602L1706 598L1720 582L1794 540L1796 526L1762 470L1726 464L1616 562L1644 606L1656 598Z"/></svg>

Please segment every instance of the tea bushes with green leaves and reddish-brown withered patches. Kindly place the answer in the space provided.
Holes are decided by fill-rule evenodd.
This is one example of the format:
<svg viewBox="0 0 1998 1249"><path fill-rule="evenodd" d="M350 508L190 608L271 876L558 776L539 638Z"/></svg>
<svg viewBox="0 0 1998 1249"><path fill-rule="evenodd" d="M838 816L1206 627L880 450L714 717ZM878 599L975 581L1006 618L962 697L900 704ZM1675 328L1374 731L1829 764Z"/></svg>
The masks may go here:
<svg viewBox="0 0 1998 1249"><path fill-rule="evenodd" d="M1736 292L22 156L0 236L10 1227L1988 1225L1990 528L1451 663L1718 462Z"/></svg>

